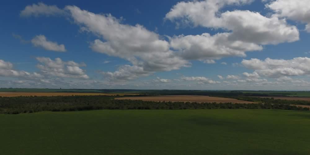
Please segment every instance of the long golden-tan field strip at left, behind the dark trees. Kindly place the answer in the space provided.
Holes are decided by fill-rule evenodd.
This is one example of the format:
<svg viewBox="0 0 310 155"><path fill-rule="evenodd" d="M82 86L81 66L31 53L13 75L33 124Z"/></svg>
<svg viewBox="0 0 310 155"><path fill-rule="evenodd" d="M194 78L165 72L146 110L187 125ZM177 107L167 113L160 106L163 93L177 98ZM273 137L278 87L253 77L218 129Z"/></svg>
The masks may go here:
<svg viewBox="0 0 310 155"><path fill-rule="evenodd" d="M15 96L71 96L71 95L136 95L136 94L110 94L110 93L61 93L61 92L0 92L2 97Z"/></svg>

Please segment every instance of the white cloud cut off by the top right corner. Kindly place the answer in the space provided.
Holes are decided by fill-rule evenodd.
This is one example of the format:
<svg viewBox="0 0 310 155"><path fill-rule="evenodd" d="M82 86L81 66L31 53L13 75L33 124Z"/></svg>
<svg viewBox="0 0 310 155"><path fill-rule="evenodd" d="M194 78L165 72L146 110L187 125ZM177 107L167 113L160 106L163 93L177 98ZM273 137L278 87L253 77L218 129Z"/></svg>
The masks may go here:
<svg viewBox="0 0 310 155"><path fill-rule="evenodd" d="M266 4L266 7L275 11L273 16L306 23L305 30L310 33L309 0L276 0Z"/></svg>

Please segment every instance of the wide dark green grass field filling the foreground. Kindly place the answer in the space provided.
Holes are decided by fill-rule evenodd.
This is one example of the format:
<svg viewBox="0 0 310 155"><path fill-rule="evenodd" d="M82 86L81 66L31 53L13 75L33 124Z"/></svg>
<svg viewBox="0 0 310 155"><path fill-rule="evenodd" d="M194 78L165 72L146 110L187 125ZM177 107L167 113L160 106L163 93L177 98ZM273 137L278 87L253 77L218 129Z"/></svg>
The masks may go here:
<svg viewBox="0 0 310 155"><path fill-rule="evenodd" d="M0 115L7 154L308 155L310 112L96 110Z"/></svg>

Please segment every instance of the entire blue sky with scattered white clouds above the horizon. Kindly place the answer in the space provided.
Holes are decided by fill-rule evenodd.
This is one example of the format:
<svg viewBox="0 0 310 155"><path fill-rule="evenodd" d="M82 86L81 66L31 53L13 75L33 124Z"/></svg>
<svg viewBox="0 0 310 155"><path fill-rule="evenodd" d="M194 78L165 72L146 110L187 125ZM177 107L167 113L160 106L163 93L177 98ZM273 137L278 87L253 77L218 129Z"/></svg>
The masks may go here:
<svg viewBox="0 0 310 155"><path fill-rule="evenodd" d="M1 87L309 90L307 0L3 3Z"/></svg>

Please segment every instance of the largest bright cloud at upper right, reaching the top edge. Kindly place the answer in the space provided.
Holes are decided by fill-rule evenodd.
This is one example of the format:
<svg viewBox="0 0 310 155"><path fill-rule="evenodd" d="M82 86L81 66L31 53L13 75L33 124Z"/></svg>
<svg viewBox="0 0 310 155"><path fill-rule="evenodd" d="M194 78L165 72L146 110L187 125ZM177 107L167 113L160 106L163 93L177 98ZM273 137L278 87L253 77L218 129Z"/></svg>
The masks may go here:
<svg viewBox="0 0 310 155"><path fill-rule="evenodd" d="M226 5L248 4L252 0L204 0L179 2L166 14L165 19L178 23L232 31L227 40L258 45L278 44L299 40L296 26L276 16L270 18L252 11L219 12Z"/></svg>

